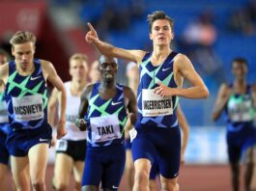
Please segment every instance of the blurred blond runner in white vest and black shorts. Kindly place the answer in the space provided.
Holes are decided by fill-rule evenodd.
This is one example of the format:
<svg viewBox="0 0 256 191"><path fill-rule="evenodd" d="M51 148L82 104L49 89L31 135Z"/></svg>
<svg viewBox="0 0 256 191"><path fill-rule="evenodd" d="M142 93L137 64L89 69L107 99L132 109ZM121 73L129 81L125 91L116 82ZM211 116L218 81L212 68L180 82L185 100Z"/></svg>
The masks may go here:
<svg viewBox="0 0 256 191"><path fill-rule="evenodd" d="M88 59L85 54L76 53L70 59L71 81L64 84L67 92L66 130L67 135L56 143L56 160L54 167L53 187L56 190L67 190L73 172L75 187L81 190L81 178L84 169L86 153L86 133L80 131L74 124L80 104L80 95L87 84ZM54 123L54 117L60 103L60 95L54 89L49 100L49 121Z"/></svg>

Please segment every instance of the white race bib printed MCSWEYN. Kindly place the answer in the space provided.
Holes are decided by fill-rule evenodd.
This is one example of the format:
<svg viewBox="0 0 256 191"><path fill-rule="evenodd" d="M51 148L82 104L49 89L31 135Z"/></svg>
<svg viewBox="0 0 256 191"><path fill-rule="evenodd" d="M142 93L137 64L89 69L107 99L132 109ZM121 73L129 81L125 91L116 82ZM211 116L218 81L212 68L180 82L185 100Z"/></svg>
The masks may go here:
<svg viewBox="0 0 256 191"><path fill-rule="evenodd" d="M12 97L15 121L34 121L43 119L42 95Z"/></svg>

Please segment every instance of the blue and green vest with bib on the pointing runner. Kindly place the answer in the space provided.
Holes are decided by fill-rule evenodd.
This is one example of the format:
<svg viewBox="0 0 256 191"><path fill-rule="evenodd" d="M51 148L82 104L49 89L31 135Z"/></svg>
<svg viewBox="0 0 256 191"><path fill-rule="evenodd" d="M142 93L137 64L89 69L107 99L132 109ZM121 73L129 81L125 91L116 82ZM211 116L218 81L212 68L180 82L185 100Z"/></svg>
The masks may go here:
<svg viewBox="0 0 256 191"><path fill-rule="evenodd" d="M147 53L139 66L140 81L137 92L138 120L135 128L141 127L176 127L178 120L176 108L179 97L160 97L154 94L157 82L171 88L177 88L173 75L174 57L178 53L171 52L165 61L155 67L151 63L152 53Z"/></svg>

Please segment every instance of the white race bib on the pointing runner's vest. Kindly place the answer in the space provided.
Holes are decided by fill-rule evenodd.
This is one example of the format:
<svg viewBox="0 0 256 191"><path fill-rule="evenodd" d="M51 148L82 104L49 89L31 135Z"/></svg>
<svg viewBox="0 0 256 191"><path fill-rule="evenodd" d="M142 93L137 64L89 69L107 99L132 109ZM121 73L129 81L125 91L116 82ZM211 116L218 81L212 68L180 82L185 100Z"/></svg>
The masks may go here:
<svg viewBox="0 0 256 191"><path fill-rule="evenodd" d="M143 117L167 116L172 114L172 97L156 95L154 90L142 90Z"/></svg>

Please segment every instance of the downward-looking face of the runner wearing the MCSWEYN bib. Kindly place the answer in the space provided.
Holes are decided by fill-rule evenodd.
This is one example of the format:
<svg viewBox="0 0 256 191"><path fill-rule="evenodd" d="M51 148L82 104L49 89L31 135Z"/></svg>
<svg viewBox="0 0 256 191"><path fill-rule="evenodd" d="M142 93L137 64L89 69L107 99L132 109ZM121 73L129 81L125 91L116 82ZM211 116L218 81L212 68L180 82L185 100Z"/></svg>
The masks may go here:
<svg viewBox="0 0 256 191"><path fill-rule="evenodd" d="M14 44L12 54L14 55L16 65L26 69L33 64L35 45L31 41Z"/></svg>

